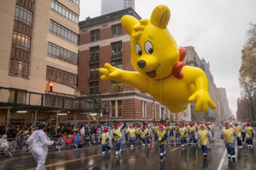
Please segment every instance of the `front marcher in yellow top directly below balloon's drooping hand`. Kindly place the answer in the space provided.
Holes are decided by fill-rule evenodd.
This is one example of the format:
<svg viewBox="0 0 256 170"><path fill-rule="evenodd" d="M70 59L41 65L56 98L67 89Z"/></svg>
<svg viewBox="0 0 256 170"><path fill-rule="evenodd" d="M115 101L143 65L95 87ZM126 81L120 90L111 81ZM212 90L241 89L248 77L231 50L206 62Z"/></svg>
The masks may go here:
<svg viewBox="0 0 256 170"><path fill-rule="evenodd" d="M207 157L207 144L208 141L211 143L211 137L209 136L208 131L204 129L204 125L201 125L201 130L198 130L195 139L201 144L203 156Z"/></svg>

